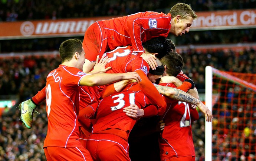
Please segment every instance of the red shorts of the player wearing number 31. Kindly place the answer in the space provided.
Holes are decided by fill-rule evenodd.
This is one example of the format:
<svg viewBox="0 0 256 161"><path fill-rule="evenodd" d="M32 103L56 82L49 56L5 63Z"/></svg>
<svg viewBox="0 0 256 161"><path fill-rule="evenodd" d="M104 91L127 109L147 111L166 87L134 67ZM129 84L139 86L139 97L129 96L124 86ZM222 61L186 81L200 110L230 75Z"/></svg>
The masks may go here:
<svg viewBox="0 0 256 161"><path fill-rule="evenodd" d="M86 149L95 161L130 161L128 142L114 134L91 134Z"/></svg>

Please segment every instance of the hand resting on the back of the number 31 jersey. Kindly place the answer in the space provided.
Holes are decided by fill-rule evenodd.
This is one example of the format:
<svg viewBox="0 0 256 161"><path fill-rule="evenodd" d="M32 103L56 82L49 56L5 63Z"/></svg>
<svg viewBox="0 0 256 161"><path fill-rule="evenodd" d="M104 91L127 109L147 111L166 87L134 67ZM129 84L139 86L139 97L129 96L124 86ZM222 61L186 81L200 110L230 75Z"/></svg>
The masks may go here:
<svg viewBox="0 0 256 161"><path fill-rule="evenodd" d="M137 105L131 104L123 109L125 114L133 119L138 119L144 116L144 110L140 109Z"/></svg>

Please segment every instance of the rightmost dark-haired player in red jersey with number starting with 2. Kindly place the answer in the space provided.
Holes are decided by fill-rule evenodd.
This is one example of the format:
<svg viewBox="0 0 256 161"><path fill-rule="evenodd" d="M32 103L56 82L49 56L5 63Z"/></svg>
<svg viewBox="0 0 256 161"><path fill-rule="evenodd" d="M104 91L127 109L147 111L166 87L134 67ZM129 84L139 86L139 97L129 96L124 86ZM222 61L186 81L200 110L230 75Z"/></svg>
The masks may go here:
<svg viewBox="0 0 256 161"><path fill-rule="evenodd" d="M174 52L165 55L161 62L165 66L163 76L177 77L184 65L183 58ZM183 78L177 78L183 81ZM173 83L160 83L159 85L176 88ZM171 100L167 97L165 97L165 101L167 109L161 116L165 127L159 137L161 161L194 161L196 155L191 122L198 120L198 112L186 102Z"/></svg>

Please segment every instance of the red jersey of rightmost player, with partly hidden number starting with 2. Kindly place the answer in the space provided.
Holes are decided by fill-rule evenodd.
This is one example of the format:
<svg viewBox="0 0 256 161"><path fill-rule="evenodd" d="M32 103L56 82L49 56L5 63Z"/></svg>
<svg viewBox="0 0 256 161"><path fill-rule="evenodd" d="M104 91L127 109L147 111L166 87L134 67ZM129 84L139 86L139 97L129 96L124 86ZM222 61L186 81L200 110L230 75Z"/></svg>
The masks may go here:
<svg viewBox="0 0 256 161"><path fill-rule="evenodd" d="M176 88L171 83L159 85ZM165 97L165 96L164 96ZM191 110L186 102L167 100L167 108L161 116L165 127L159 139L161 160L171 157L195 156L191 129Z"/></svg>

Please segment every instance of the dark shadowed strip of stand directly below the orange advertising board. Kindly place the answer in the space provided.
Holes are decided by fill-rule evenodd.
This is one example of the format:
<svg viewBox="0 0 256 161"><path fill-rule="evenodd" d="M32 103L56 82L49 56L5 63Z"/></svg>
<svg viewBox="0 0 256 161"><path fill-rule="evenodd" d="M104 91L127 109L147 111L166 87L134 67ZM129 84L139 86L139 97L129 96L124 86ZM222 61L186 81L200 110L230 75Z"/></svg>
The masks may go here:
<svg viewBox="0 0 256 161"><path fill-rule="evenodd" d="M70 38L70 37L68 37ZM55 51L59 50L59 44L67 40L66 37L58 38L34 38L21 40L0 40L0 54L10 52L31 51ZM78 38L83 41L83 37ZM256 28L240 30L212 30L193 31L181 37L169 37L177 47L184 45L207 45L207 44L242 44L256 42Z"/></svg>

